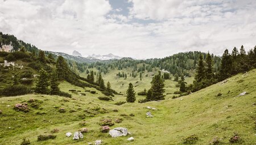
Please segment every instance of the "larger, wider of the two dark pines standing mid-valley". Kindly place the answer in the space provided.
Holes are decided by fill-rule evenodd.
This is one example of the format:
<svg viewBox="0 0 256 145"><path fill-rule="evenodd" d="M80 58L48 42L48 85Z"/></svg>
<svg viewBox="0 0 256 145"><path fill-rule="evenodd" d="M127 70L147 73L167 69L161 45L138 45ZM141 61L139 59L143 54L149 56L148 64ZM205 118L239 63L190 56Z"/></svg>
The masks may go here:
<svg viewBox="0 0 256 145"><path fill-rule="evenodd" d="M151 81L152 100L164 100L164 82L161 74L155 75Z"/></svg>

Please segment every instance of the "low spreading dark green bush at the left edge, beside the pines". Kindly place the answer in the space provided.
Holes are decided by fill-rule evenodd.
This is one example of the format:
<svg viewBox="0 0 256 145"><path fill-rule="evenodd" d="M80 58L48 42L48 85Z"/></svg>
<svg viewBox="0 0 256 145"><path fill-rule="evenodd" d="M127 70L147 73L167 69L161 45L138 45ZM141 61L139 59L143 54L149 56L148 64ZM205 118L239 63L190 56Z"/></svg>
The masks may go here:
<svg viewBox="0 0 256 145"><path fill-rule="evenodd" d="M1 96L20 96L31 93L31 89L24 85L11 85L0 90Z"/></svg>

